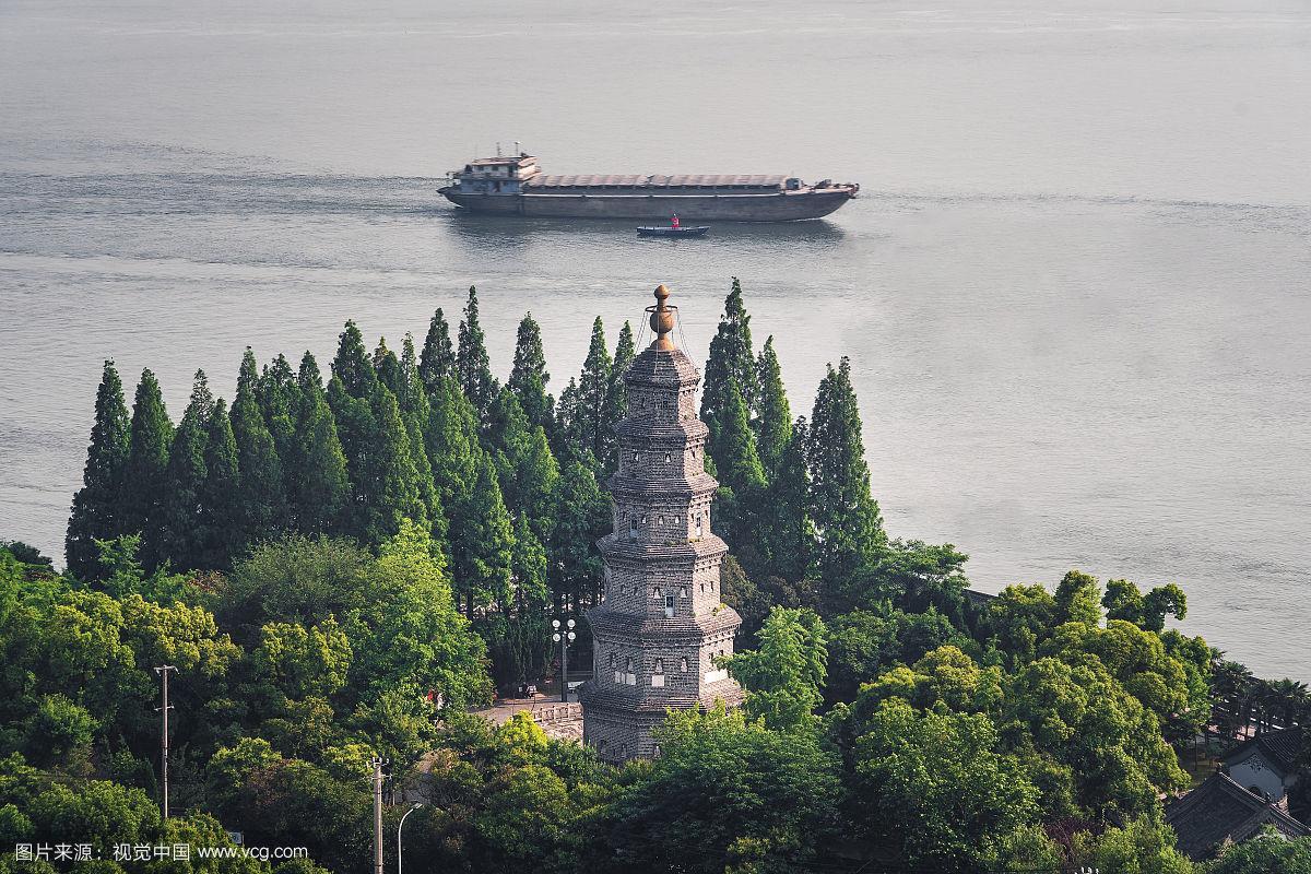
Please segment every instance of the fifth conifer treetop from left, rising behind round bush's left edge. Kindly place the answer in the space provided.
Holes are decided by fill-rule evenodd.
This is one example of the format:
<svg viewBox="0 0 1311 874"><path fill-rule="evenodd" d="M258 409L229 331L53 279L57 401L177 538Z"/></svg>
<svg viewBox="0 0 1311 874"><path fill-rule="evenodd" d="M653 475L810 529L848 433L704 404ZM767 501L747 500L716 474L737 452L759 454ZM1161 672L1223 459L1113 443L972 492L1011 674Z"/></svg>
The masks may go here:
<svg viewBox="0 0 1311 874"><path fill-rule="evenodd" d="M258 375L254 352L246 346L232 400L232 436L241 470L241 544L266 539L286 523L282 460L257 400Z"/></svg>

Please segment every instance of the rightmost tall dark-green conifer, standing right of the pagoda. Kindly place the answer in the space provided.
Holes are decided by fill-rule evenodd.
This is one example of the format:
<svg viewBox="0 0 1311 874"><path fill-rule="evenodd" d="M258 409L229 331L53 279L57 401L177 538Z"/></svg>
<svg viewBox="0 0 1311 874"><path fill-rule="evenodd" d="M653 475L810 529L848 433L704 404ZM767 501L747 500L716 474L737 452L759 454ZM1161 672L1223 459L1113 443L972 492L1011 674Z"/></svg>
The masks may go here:
<svg viewBox="0 0 1311 874"><path fill-rule="evenodd" d="M869 489L860 410L846 356L836 371L830 364L819 383L806 440L819 573L830 591L842 591L873 565L886 542Z"/></svg>

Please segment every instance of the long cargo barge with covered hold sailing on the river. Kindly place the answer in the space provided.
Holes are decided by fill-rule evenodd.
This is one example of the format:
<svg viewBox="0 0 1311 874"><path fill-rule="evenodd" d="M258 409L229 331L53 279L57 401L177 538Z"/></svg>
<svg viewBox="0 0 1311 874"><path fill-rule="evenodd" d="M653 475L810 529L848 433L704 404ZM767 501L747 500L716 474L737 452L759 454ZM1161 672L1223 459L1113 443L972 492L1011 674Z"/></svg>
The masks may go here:
<svg viewBox="0 0 1311 874"><path fill-rule="evenodd" d="M469 161L438 191L488 215L797 221L829 215L860 186L787 176L545 176L538 159L518 155Z"/></svg>

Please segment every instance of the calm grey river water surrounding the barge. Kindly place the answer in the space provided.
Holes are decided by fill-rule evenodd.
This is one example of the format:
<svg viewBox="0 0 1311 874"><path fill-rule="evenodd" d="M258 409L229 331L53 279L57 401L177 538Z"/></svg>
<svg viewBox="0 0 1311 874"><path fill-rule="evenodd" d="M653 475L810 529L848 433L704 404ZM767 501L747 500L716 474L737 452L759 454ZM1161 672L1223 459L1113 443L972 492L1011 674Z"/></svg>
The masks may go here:
<svg viewBox="0 0 1311 874"><path fill-rule="evenodd" d="M1311 680L1311 9L0 4L0 537L62 553L101 360L174 415L241 350L396 346L476 283L493 363L730 276L794 413L850 355L897 536L975 584L1179 582L1184 628ZM434 177L859 181L823 221L638 241L458 215Z"/></svg>

